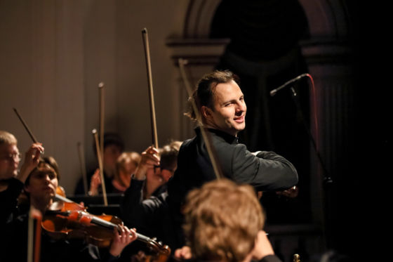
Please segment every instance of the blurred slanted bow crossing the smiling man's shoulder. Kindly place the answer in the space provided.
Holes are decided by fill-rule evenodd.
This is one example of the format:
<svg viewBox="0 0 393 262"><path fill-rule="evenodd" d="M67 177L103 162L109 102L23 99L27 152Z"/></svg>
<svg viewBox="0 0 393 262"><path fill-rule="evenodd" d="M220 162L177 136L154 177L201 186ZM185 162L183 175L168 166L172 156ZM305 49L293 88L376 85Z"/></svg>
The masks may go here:
<svg viewBox="0 0 393 262"><path fill-rule="evenodd" d="M220 169L220 166L218 165L217 157L214 151L214 148L211 146L211 140L210 137L208 136L208 133L206 133L206 128L204 127L204 123L202 122L201 114L199 113L198 107L196 106L196 101L192 98L192 89L191 85L189 84L189 81L187 79L187 74L185 73L185 65L187 64L187 60L184 60L182 58L179 58L178 60L179 63L179 68L180 68L180 74L182 76L182 79L185 83L185 87L187 89L187 93L189 98L191 98L191 104L192 108L195 112L195 117L196 117L196 122L198 125L201 127L201 134L202 137L204 138L205 144L206 144L206 149L208 151L208 155L211 159L211 164L213 165L213 170L215 173L216 178L222 178L222 171Z"/></svg>

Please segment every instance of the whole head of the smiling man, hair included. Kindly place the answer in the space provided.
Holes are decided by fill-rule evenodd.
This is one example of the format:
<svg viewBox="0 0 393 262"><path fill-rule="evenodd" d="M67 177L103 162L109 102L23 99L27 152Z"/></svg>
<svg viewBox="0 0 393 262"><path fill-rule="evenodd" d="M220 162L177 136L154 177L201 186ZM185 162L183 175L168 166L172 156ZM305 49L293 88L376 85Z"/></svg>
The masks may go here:
<svg viewBox="0 0 393 262"><path fill-rule="evenodd" d="M246 127L247 107L238 81L239 78L230 71L205 74L189 98L189 102L196 103L204 124L233 136ZM193 107L187 115L196 120Z"/></svg>

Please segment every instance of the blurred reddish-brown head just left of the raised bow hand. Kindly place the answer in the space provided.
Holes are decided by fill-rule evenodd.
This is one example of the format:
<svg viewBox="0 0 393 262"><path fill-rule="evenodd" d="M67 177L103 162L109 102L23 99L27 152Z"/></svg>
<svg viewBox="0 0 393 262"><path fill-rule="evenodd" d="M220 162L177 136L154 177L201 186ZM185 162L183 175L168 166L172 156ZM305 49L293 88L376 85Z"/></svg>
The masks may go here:
<svg viewBox="0 0 393 262"><path fill-rule="evenodd" d="M128 187L131 181L131 175L135 173L135 169L140 161L138 152L123 152L116 161L116 177L115 179L121 185Z"/></svg>

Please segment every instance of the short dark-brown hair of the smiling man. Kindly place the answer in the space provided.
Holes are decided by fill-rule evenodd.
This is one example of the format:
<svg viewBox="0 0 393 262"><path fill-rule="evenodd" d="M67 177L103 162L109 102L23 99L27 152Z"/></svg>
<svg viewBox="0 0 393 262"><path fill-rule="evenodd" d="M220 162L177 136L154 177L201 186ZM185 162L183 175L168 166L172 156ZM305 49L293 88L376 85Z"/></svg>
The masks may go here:
<svg viewBox="0 0 393 262"><path fill-rule="evenodd" d="M189 110L185 113L185 115L196 121L196 114L194 112L194 107L192 106L193 103L195 103L199 112L201 112L202 106L207 106L213 109L215 86L222 83L228 83L232 80L239 84L239 77L229 70L215 70L211 73L205 74L201 79L199 79L198 84L196 84L196 89L192 93L192 96L188 98Z"/></svg>

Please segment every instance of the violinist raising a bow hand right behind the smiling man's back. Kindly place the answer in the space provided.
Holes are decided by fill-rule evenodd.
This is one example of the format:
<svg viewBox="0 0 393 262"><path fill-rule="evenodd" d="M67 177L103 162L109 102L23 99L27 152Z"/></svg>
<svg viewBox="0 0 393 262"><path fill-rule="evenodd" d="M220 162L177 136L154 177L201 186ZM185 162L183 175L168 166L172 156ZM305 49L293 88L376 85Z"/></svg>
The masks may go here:
<svg viewBox="0 0 393 262"><path fill-rule="evenodd" d="M180 141L174 140L161 149L150 146L142 152L121 202L124 223L137 227L145 235L154 235L170 247L173 230L166 204L166 184L177 168L180 145Z"/></svg>

